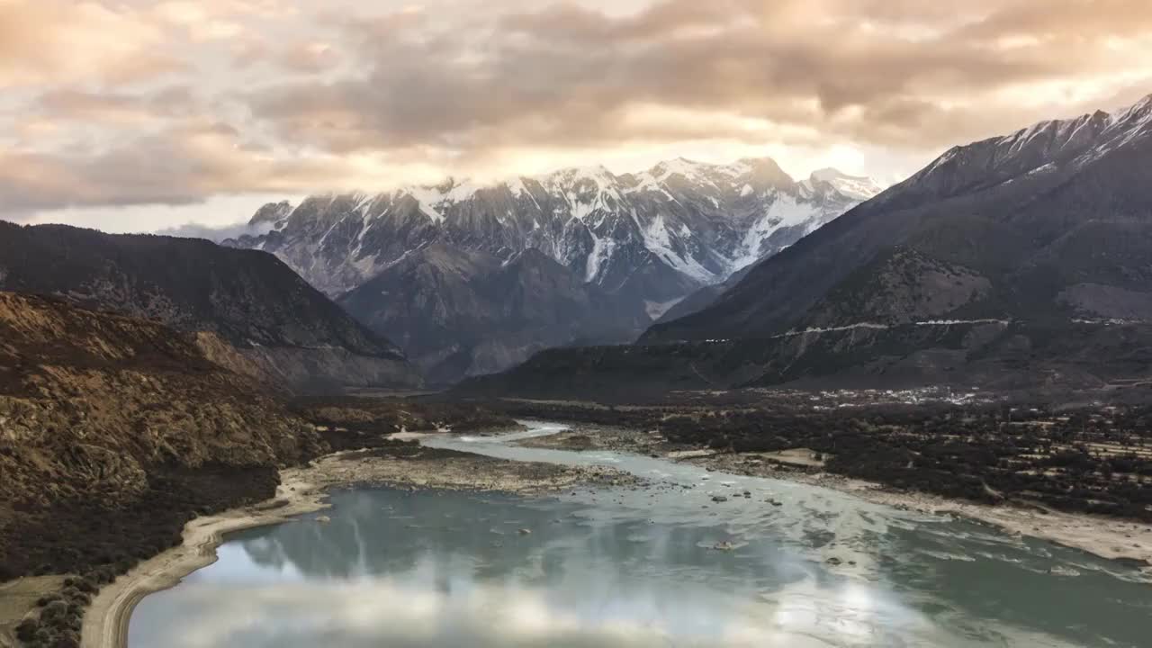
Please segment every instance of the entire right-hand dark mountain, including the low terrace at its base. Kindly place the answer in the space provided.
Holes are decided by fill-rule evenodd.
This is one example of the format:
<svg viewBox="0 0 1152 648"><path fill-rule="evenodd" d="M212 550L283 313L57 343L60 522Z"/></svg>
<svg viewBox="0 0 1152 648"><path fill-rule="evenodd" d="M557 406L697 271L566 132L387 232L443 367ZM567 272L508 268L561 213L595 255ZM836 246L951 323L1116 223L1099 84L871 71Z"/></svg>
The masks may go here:
<svg viewBox="0 0 1152 648"><path fill-rule="evenodd" d="M954 146L637 345L552 349L462 391L1144 380L1150 176L1152 97Z"/></svg>

